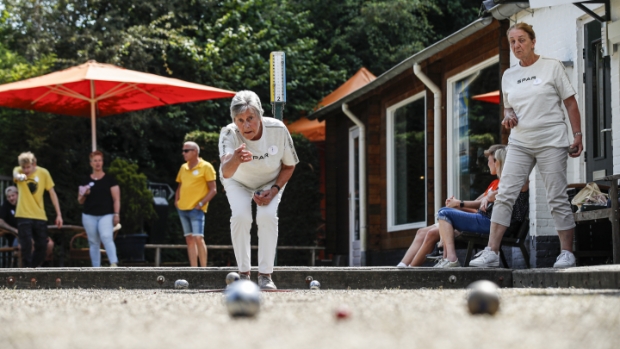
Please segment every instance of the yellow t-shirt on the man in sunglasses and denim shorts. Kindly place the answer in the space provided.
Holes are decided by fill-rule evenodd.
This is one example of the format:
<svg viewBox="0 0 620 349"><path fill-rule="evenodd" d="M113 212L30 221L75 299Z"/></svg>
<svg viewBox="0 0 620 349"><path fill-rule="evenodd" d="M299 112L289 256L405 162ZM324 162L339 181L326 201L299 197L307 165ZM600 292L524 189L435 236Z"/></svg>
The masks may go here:
<svg viewBox="0 0 620 349"><path fill-rule="evenodd" d="M177 175L177 183L181 183L181 192L179 193L179 210L191 210L198 201L204 199L209 193L207 182L215 180L215 169L213 166L199 159L198 165L190 169L189 164L185 163L181 166ZM202 210L207 212L209 203L202 206Z"/></svg>

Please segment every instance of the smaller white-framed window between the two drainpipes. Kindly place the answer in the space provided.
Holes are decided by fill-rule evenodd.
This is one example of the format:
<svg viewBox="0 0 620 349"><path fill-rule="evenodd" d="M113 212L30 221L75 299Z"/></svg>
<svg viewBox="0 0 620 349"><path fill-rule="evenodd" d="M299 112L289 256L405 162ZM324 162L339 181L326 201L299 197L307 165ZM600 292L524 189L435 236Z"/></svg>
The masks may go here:
<svg viewBox="0 0 620 349"><path fill-rule="evenodd" d="M426 226L424 92L387 109L388 231Z"/></svg>

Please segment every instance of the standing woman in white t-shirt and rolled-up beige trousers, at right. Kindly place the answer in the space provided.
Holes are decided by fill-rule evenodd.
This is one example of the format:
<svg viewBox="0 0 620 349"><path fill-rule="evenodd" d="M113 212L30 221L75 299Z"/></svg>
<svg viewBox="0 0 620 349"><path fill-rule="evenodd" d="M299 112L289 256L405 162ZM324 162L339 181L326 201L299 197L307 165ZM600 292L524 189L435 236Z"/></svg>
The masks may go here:
<svg viewBox="0 0 620 349"><path fill-rule="evenodd" d="M568 156L579 157L583 151L576 92L560 61L534 52L536 34L531 25L514 24L507 35L510 49L519 63L506 70L502 77L502 125L512 129L508 139L505 175L502 176L491 217L489 245L470 265L499 266L499 245L510 225L512 206L531 170L538 165L560 238L561 252L554 267L572 267L575 266L572 253L575 221L566 194L566 160ZM562 104L568 112L572 144Z"/></svg>

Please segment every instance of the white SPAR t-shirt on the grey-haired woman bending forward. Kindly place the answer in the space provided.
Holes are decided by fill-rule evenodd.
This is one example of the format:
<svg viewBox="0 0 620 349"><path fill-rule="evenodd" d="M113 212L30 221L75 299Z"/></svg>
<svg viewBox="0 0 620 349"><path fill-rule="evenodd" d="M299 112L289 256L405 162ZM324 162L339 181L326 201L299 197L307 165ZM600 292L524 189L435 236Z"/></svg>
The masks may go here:
<svg viewBox="0 0 620 349"><path fill-rule="evenodd" d="M299 162L293 139L284 123L270 117L263 117L262 120L263 134L256 141L244 138L234 123L222 128L220 158L234 153L242 143L253 155L252 161L239 165L231 178L224 178L220 166L220 178L224 186L234 180L252 190L263 189L275 183L282 164L293 166Z"/></svg>

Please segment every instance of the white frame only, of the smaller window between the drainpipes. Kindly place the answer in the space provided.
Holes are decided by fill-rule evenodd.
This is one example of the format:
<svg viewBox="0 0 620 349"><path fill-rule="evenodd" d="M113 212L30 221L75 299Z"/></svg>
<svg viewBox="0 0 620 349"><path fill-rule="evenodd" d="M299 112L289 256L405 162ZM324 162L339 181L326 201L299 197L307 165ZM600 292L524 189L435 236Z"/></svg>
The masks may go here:
<svg viewBox="0 0 620 349"><path fill-rule="evenodd" d="M421 98L424 98L424 110L426 111L426 91L422 91L420 93L417 93L407 99L404 99L394 105L391 105L390 107L387 108L386 110L386 156L387 156L387 231L388 232L394 232L394 231L401 231L401 230L407 230L407 229L416 229L416 228L423 228L425 227L426 224L426 218L423 221L420 222L413 222L413 223L407 223L407 224L399 224L396 225L394 224L394 197L395 197L395 188L394 185L396 183L395 179L394 179L394 112L396 111L396 109L405 106L409 103L415 102ZM426 124L426 113L424 113L424 115L422 115L422 117L424 118L424 154L426 154L426 130L427 130L427 124ZM426 203L428 202L427 199L427 193L428 193L428 157L424 156L424 168L427 169L424 171L424 182L425 184L425 188L424 188L424 202L425 202L425 214L424 216L426 217L428 215L428 205L426 205Z"/></svg>

